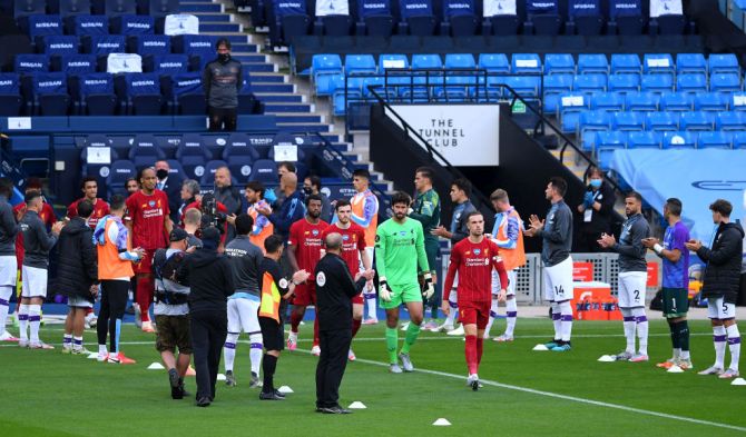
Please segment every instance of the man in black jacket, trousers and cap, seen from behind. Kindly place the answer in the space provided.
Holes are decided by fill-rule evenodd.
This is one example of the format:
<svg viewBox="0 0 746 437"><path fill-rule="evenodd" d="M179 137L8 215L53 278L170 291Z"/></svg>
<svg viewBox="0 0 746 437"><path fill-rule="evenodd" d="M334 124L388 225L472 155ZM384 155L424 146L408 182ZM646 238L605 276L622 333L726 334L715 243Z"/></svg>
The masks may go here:
<svg viewBox="0 0 746 437"><path fill-rule="evenodd" d="M220 231L214 227L203 229L202 244L202 248L184 258L176 272L176 280L190 287L187 301L197 371L197 406L207 407L215 400L217 368L228 334L226 301L236 287L230 261L217 254Z"/></svg>

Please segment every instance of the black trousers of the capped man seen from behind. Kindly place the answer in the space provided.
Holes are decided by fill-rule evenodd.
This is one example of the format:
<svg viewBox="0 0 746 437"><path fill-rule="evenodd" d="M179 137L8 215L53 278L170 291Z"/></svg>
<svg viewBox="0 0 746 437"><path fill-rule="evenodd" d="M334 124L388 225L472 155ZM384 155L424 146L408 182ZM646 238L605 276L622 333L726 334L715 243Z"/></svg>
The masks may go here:
<svg viewBox="0 0 746 437"><path fill-rule="evenodd" d="M228 335L228 314L222 311L193 312L189 329L192 331L192 352L197 373L197 399L215 399L215 381L220 365L220 354L225 337Z"/></svg>

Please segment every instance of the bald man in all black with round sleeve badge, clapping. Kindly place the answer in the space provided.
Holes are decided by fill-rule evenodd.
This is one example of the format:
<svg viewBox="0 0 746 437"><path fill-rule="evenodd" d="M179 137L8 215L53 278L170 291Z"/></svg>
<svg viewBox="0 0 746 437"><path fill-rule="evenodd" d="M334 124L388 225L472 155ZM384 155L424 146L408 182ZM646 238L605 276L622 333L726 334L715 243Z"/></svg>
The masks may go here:
<svg viewBox="0 0 746 437"><path fill-rule="evenodd" d="M316 411L349 414L338 404L340 384L347 365L352 342L352 298L359 295L365 281L373 279L373 270L350 276L347 265L340 256L342 235L326 237L326 255L316 265L316 309L321 357L316 366Z"/></svg>

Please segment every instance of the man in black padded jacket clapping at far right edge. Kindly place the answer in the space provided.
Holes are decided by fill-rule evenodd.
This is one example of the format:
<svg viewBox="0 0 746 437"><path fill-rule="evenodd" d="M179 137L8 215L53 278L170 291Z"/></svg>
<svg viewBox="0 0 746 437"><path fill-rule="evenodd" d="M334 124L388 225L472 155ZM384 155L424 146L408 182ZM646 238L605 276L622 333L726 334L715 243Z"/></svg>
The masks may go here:
<svg viewBox="0 0 746 437"><path fill-rule="evenodd" d="M744 248L744 228L730 222L733 205L717 199L709 206L713 221L718 225L713 248L701 241L689 240L686 248L697 252L707 262L703 277L701 297L707 298L707 316L713 324L715 364L699 375L718 375L723 379L738 377L740 332L736 325L736 301L740 289L740 260ZM725 367L726 339L730 348L730 366Z"/></svg>

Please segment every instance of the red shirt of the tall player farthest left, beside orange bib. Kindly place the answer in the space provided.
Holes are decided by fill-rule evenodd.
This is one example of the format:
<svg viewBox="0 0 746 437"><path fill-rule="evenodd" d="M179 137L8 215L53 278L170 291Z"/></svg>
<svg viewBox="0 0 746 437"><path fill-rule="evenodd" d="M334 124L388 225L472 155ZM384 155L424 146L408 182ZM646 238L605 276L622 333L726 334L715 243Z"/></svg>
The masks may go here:
<svg viewBox="0 0 746 437"><path fill-rule="evenodd" d="M166 247L165 221L168 219L168 197L160 190L148 196L143 190L127 198L126 220L132 224L132 247L155 250Z"/></svg>

